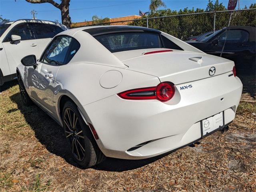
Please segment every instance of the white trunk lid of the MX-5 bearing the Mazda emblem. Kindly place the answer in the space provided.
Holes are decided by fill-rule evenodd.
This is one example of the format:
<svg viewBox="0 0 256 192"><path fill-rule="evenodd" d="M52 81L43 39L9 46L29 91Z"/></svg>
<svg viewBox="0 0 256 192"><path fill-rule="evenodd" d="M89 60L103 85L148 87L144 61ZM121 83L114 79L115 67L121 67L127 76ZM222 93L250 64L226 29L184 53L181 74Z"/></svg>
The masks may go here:
<svg viewBox="0 0 256 192"><path fill-rule="evenodd" d="M204 53L181 50L154 53L157 50L167 49L132 50L114 55L128 66L128 70L157 76L161 82L170 81L174 84L223 74L232 71L234 66L230 60ZM145 55L146 52L152 54Z"/></svg>

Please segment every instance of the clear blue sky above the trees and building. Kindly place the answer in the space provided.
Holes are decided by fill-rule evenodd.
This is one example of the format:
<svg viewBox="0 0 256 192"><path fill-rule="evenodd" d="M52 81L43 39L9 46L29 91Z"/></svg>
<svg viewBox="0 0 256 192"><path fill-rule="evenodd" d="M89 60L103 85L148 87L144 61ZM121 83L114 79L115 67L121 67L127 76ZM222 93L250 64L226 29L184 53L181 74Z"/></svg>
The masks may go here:
<svg viewBox="0 0 256 192"><path fill-rule="evenodd" d="M60 2L60 0L55 0ZM208 0L163 0L167 8L180 10L188 8L206 8ZM215 0L213 0L215 2ZM226 7L228 0L219 0ZM240 0L240 6L255 3L255 0ZM138 15L139 10L147 12L150 0L71 0L70 17L72 22L92 20L97 15L102 18L115 18ZM238 6L237 6L238 7ZM0 0L0 15L9 20L32 18L31 10L35 10L37 19L58 20L61 22L60 10L50 3L31 4L25 0Z"/></svg>

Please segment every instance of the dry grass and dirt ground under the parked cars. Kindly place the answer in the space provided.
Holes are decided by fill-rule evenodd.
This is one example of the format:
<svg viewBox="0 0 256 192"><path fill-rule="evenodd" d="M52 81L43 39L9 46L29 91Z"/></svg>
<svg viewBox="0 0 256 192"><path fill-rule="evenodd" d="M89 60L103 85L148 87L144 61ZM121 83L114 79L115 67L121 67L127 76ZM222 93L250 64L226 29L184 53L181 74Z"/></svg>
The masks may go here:
<svg viewBox="0 0 256 192"><path fill-rule="evenodd" d="M255 78L242 78L255 101ZM146 160L107 158L88 169L66 155L62 129L22 105L16 82L0 94L0 191L256 192L256 104L240 102L229 131Z"/></svg>

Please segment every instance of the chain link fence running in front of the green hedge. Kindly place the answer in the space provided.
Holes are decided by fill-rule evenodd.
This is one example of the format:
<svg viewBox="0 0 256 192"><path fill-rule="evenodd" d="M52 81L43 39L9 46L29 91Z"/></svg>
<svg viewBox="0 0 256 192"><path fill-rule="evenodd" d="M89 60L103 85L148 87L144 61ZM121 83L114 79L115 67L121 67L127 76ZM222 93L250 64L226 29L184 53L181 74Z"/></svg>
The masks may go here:
<svg viewBox="0 0 256 192"><path fill-rule="evenodd" d="M187 40L191 36L198 36L205 32L219 30L228 26L230 14L230 26L256 26L256 8L233 11L198 12L154 18L144 17L141 19L125 20L120 22L91 22L87 26L143 26L161 30L181 40Z"/></svg>

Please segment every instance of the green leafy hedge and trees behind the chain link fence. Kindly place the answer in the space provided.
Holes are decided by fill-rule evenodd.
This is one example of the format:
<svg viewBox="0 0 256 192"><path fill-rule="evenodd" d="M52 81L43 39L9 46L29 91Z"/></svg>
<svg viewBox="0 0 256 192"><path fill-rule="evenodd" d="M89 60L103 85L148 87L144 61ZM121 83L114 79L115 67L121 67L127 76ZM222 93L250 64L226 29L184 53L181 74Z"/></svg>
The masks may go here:
<svg viewBox="0 0 256 192"><path fill-rule="evenodd" d="M251 4L250 8L256 8L256 4ZM247 9L247 7L244 7ZM179 16L181 14L190 13L203 13L205 11L220 11L226 10L226 7L216 0L214 3L209 0L206 10L200 8L184 8L183 10L158 10L156 12L150 12L148 18L160 17L160 16L174 16L166 18L152 18L148 20L148 26L150 28L158 29L168 34L171 34L182 40L187 40L190 36L197 36L208 31L213 30L214 26L214 14L196 14L188 16ZM228 26L230 13L222 12L216 14L216 30ZM242 25L242 26L256 26L256 11L244 11L232 13L231 25ZM144 26L146 27L145 20L134 20L129 25L133 26Z"/></svg>

